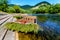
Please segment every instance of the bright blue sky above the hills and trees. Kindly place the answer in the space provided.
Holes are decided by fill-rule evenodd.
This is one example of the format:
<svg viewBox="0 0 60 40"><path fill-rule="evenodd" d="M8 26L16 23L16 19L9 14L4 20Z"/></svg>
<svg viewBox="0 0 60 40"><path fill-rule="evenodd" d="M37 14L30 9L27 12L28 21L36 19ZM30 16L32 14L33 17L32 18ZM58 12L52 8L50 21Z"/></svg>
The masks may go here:
<svg viewBox="0 0 60 40"><path fill-rule="evenodd" d="M34 6L37 3L40 3L42 1L47 1L51 4L56 4L56 3L60 3L60 0L8 0L9 4L16 4L16 5L31 5Z"/></svg>

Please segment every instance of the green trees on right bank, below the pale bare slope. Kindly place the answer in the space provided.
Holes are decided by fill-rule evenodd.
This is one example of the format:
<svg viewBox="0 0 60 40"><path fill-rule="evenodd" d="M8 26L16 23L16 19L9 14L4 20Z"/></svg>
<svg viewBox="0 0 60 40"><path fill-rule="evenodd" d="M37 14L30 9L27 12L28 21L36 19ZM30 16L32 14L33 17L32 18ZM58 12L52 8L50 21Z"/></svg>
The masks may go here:
<svg viewBox="0 0 60 40"><path fill-rule="evenodd" d="M39 5L39 8L33 9L32 13L50 13L50 14L56 14L60 13L60 4L55 4L55 5Z"/></svg>

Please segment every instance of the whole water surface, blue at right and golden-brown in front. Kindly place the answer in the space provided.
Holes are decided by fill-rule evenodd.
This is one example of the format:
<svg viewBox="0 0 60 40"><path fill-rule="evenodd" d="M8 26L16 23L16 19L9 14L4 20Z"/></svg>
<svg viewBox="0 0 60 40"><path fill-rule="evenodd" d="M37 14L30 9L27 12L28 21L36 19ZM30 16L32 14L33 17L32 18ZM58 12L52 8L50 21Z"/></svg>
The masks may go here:
<svg viewBox="0 0 60 40"><path fill-rule="evenodd" d="M19 40L60 40L60 15L33 16L37 16L37 24L43 31L39 30L37 34L19 32Z"/></svg>

